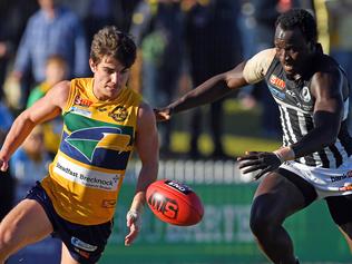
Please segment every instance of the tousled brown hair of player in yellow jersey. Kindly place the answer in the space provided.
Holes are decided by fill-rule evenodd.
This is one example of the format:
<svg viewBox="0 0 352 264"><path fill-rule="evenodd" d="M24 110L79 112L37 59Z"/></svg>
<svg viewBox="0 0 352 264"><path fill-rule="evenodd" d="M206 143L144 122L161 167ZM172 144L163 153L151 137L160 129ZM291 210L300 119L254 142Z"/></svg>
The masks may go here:
<svg viewBox="0 0 352 264"><path fill-rule="evenodd" d="M136 43L129 35L114 26L107 26L94 36L90 58L95 63L99 63L104 56L113 56L126 68L130 68L136 60Z"/></svg>

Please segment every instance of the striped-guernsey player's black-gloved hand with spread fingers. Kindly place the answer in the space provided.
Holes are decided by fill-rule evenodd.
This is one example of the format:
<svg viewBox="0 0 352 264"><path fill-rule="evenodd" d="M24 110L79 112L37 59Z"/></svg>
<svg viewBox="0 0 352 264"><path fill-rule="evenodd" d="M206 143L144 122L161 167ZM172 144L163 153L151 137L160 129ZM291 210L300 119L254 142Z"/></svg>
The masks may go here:
<svg viewBox="0 0 352 264"><path fill-rule="evenodd" d="M237 160L239 163L238 167L244 174L260 170L254 176L254 179L258 179L264 174L275 170L283 163L277 154L264 151L250 151L245 156L238 157Z"/></svg>

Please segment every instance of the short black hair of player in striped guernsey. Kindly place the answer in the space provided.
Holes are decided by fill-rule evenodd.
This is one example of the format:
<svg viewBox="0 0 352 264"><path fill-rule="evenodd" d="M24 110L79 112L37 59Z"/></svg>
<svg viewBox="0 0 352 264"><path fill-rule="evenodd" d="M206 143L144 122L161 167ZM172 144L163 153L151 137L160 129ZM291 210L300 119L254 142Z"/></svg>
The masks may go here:
<svg viewBox="0 0 352 264"><path fill-rule="evenodd" d="M278 16L275 26L283 30L300 28L309 42L316 42L317 30L314 17L306 10L294 8Z"/></svg>

